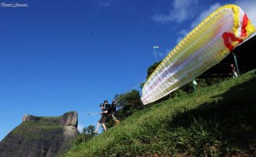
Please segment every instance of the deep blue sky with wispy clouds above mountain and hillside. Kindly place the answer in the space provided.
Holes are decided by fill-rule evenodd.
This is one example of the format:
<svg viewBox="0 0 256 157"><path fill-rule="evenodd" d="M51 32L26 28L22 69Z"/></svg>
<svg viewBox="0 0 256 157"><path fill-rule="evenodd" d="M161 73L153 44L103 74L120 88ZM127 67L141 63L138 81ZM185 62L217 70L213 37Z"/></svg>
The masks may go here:
<svg viewBox="0 0 256 157"><path fill-rule="evenodd" d="M78 111L79 129L96 125L88 113L146 78L154 45L162 60L226 3L256 24L255 0L1 0L0 140L26 113Z"/></svg>

